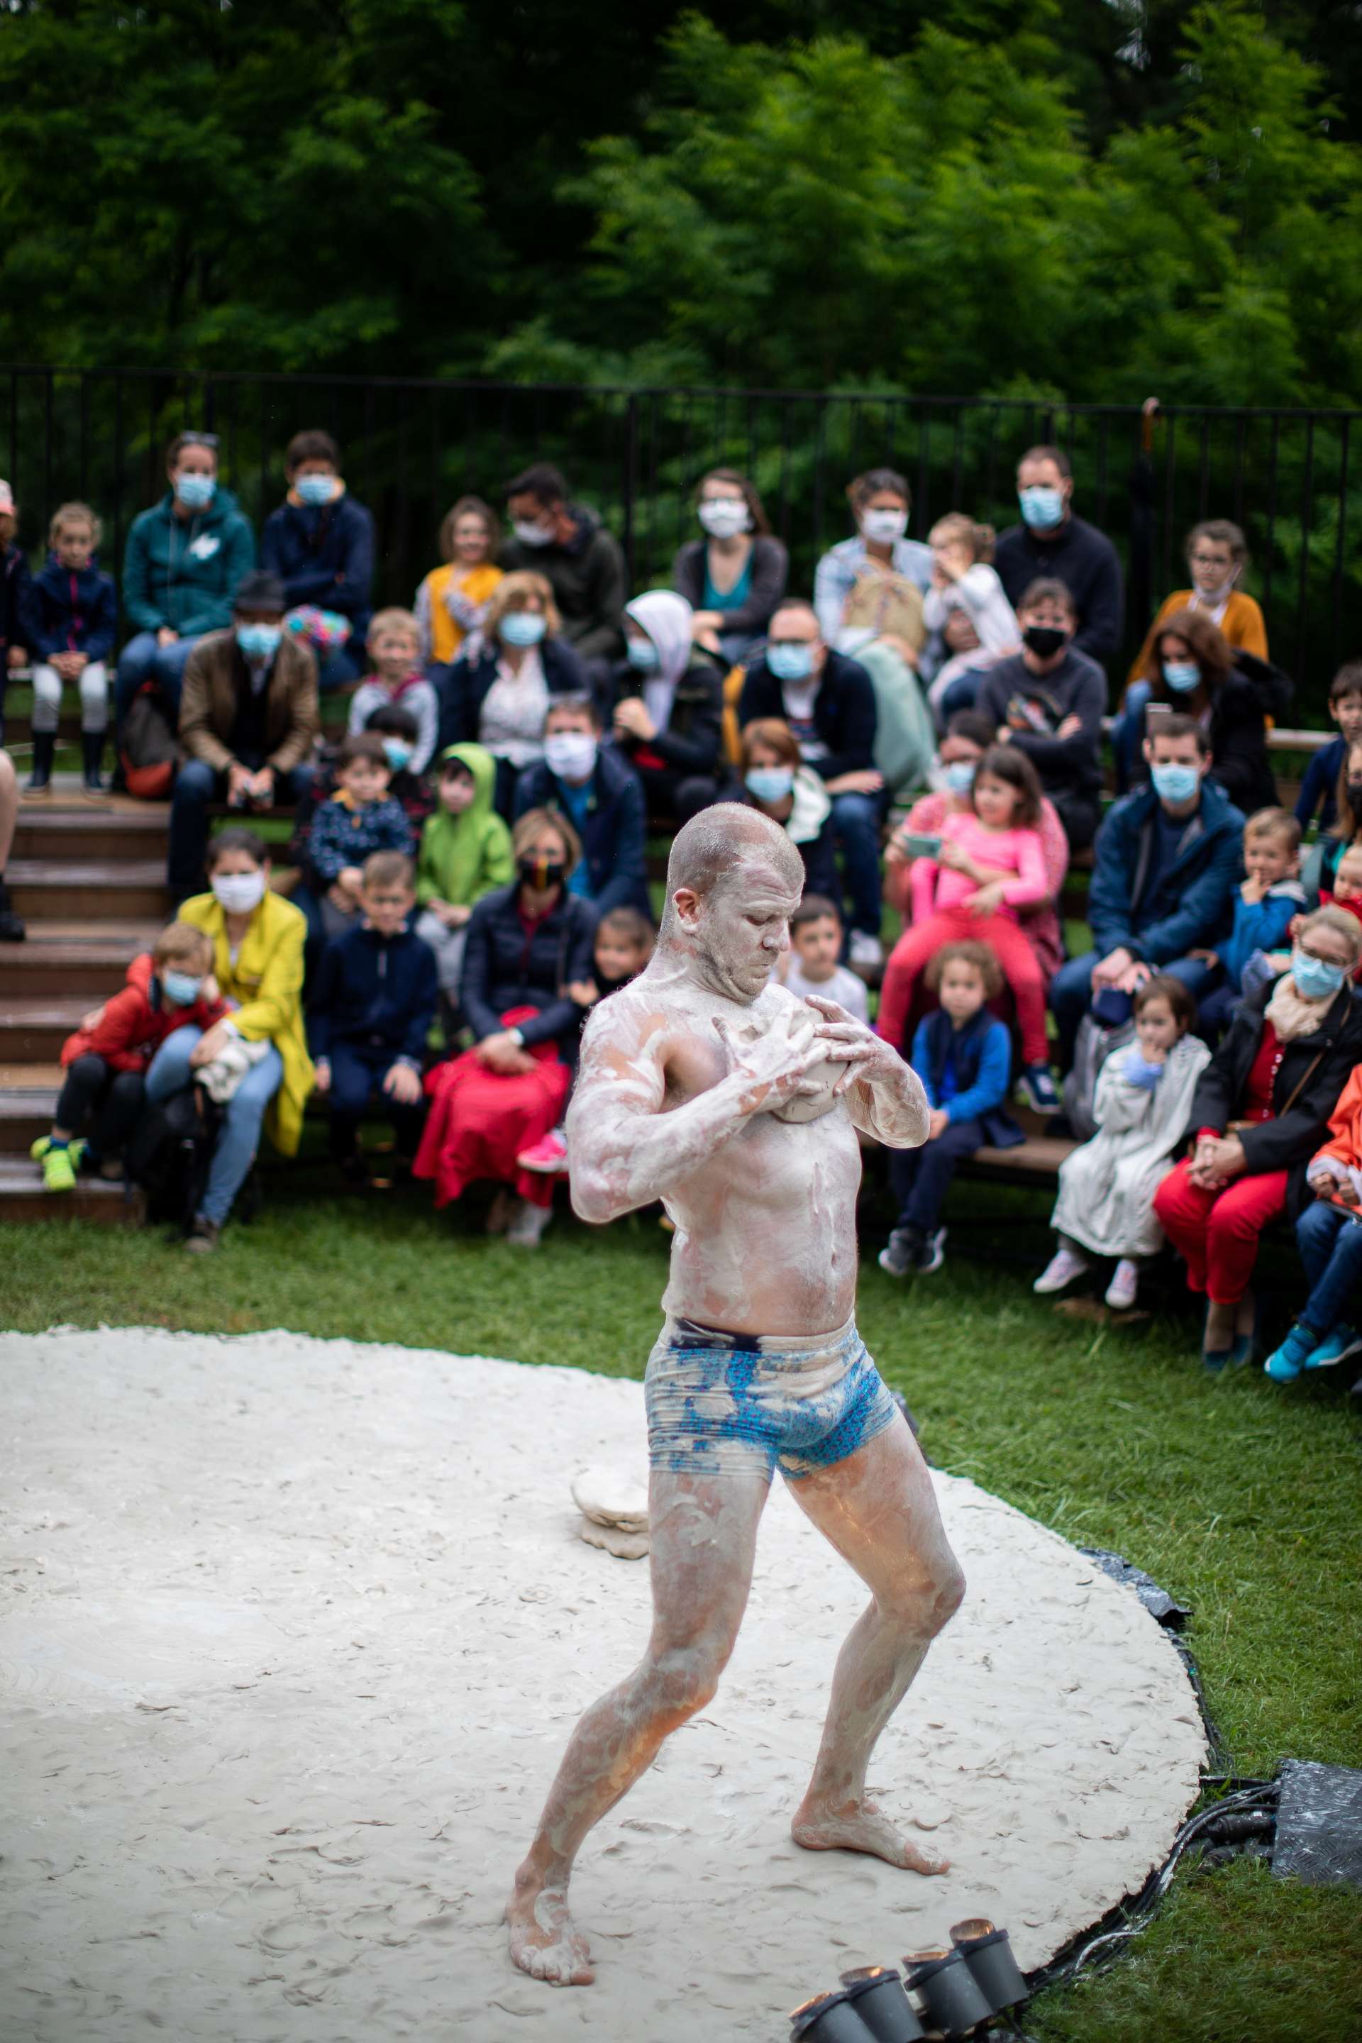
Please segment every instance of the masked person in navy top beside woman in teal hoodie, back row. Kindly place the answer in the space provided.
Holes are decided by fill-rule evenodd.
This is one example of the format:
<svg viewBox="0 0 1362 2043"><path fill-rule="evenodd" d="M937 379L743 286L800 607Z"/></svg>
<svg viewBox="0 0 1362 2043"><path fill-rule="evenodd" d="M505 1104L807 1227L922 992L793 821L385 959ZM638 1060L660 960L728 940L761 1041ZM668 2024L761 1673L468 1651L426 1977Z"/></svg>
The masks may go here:
<svg viewBox="0 0 1362 2043"><path fill-rule="evenodd" d="M265 519L259 564L284 582L290 611L331 611L349 635L319 656L319 686L341 688L363 674L374 586L374 517L345 488L331 433L294 433L284 454L288 496ZM300 619L306 635L306 621Z"/></svg>

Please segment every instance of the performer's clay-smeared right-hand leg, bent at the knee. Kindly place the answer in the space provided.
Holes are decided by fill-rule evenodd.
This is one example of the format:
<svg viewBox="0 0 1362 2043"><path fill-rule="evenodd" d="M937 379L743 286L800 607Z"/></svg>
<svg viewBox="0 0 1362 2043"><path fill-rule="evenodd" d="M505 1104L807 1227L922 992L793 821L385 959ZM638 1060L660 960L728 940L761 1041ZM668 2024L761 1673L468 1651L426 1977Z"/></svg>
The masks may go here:
<svg viewBox="0 0 1362 2043"><path fill-rule="evenodd" d="M870 1589L833 1673L823 1743L792 1837L809 1851L870 1851L915 1873L943 1873L866 1798L866 1767L927 1647L964 1598L927 1463L907 1426L886 1426L845 1461L790 1483L807 1518Z"/></svg>

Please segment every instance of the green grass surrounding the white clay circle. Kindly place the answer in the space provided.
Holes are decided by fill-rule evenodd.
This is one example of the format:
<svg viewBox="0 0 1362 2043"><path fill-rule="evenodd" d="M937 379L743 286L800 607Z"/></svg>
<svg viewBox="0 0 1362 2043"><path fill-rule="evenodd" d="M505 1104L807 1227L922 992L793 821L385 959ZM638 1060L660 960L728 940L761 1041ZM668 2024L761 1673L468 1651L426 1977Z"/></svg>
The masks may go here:
<svg viewBox="0 0 1362 2043"><path fill-rule="evenodd" d="M641 1375L668 1256L655 1218L602 1232L560 1218L525 1254L480 1236L480 1209L437 1218L419 1193L333 1199L323 1167L302 1165L270 1175L261 1218L210 1258L157 1234L10 1228L4 1318L288 1326ZM1284 1755L1356 1765L1362 1424L1346 1383L1209 1381L1180 1310L1129 1330L1058 1314L1027 1289L1048 1254L1045 1209L958 1187L945 1271L917 1289L866 1254L862 1330L929 1457L1072 1540L1115 1547L1193 1606L1188 1643L1242 1773ZM874 1185L862 1218L870 1248L886 1218ZM1295 1281L1286 1250L1274 1267ZM1043 2043L1342 2043L1362 2033L1360 1982L1356 1894L1235 1863L1180 1873L1127 1957L1048 1994L1025 2027Z"/></svg>

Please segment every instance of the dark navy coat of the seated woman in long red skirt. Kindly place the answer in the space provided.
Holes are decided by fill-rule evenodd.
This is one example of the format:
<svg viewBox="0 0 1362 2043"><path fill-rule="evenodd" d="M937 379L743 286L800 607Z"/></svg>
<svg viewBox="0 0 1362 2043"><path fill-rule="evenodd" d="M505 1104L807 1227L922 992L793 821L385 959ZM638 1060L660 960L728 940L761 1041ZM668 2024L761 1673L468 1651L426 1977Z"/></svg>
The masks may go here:
<svg viewBox="0 0 1362 2043"><path fill-rule="evenodd" d="M592 977L596 909L566 889L525 934L521 885L484 895L468 917L459 1007L478 1042L496 1036L508 1007L537 1007L533 1022L517 1024L527 1044L570 1038L582 1009L566 989Z"/></svg>

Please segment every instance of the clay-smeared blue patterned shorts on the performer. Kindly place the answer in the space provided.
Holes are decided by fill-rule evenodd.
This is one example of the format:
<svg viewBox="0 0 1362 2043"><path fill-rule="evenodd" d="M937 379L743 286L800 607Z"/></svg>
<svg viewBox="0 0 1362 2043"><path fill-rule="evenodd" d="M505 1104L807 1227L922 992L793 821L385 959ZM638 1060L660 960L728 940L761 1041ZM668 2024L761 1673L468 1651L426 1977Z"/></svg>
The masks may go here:
<svg viewBox="0 0 1362 2043"><path fill-rule="evenodd" d="M794 1481L845 1461L898 1408L847 1320L835 1334L725 1334L668 1318L647 1357L647 1457L676 1475Z"/></svg>

